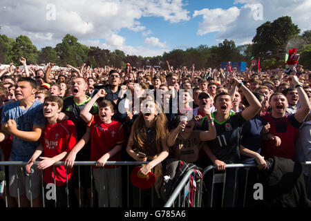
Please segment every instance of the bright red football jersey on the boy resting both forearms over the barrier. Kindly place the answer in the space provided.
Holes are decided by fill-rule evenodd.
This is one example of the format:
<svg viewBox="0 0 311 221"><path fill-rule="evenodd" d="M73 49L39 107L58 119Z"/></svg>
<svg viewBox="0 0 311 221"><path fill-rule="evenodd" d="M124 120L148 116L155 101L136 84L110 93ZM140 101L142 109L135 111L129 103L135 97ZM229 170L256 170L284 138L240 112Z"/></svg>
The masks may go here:
<svg viewBox="0 0 311 221"><path fill-rule="evenodd" d="M76 143L77 131L72 121L66 120L53 125L46 123L44 135L41 137L41 144L44 146L44 157L55 157L64 151L69 153ZM68 180L71 178L72 172L73 169L67 169ZM46 183L54 183L55 177L57 186L66 184L66 168L64 166L55 166L55 173L53 166L50 166L44 169L43 175Z"/></svg>

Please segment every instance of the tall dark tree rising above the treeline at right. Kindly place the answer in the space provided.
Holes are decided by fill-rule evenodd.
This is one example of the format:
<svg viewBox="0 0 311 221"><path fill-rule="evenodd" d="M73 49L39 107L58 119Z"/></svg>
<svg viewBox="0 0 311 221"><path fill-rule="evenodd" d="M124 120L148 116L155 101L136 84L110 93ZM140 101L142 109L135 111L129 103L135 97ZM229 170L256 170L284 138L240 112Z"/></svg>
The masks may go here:
<svg viewBox="0 0 311 221"><path fill-rule="evenodd" d="M253 55L263 59L283 59L288 40L298 35L298 26L292 23L291 17L279 17L273 22L267 21L256 29L253 38Z"/></svg>

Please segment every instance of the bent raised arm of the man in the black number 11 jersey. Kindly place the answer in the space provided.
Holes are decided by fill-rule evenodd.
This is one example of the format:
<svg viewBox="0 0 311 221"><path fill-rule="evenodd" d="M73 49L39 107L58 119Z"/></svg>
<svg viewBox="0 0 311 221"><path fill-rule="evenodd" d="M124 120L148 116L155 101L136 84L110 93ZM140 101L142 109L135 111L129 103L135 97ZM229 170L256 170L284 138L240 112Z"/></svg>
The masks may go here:
<svg viewBox="0 0 311 221"><path fill-rule="evenodd" d="M236 79L236 77L231 79L230 84L232 84L232 86L238 86L238 88L241 88L243 95L249 103L249 106L244 111L242 111L242 117L247 121L252 119L261 109L261 103L241 81Z"/></svg>

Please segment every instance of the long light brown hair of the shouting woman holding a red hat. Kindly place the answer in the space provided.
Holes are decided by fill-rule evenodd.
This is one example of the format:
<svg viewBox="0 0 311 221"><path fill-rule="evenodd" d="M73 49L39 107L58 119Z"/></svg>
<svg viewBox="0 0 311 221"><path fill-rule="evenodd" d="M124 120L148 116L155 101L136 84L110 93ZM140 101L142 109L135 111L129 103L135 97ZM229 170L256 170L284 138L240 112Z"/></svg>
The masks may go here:
<svg viewBox="0 0 311 221"><path fill-rule="evenodd" d="M164 137L169 133L167 126L167 116L163 113L163 110L158 102L154 101L153 99L149 100L156 104L156 108L158 111L158 115L156 115L153 119L152 128L155 128L156 130L156 147L158 153L160 153L162 151L161 137ZM146 149L147 129L146 126L144 126L144 115L142 113L140 113L138 115L138 118L135 119L135 122L133 124L133 133L134 145L138 146L141 149Z"/></svg>

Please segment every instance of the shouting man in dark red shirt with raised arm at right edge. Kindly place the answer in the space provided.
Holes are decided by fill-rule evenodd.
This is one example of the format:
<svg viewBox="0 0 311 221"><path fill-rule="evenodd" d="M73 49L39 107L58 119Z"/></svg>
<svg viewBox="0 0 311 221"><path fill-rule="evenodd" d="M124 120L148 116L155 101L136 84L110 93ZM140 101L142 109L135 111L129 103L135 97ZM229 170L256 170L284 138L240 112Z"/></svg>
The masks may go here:
<svg viewBox="0 0 311 221"><path fill-rule="evenodd" d="M274 93L270 97L271 113L263 113L262 117L270 124L270 131L264 137L263 155L269 157L283 157L294 160L297 133L301 123L310 112L310 102L303 87L296 76L290 79L298 91L301 107L294 114L286 113L288 100L282 93Z"/></svg>

